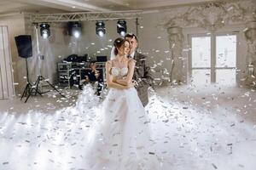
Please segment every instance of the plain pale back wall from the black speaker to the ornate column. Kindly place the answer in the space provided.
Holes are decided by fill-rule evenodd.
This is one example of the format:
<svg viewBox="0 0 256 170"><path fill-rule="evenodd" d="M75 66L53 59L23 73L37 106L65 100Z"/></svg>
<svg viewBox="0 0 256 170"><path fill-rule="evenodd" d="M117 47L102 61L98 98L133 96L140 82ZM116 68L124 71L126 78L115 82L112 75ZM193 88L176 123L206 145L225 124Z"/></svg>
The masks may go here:
<svg viewBox="0 0 256 170"><path fill-rule="evenodd" d="M160 14L145 14L143 19L139 19L138 41L139 49L143 54L148 55L148 64L159 64L156 71L169 68L169 43L166 30L157 26ZM43 39L39 37L40 52L43 54L42 75L49 77L51 82L57 81L57 62L65 59L70 54L89 54L90 58L97 55L107 55L109 57L113 40L120 37L116 28L117 20L105 21L107 29L104 37L96 36L96 22L84 21L82 37L74 38L67 35L66 24L51 24L51 37ZM136 20L126 20L127 31L136 33ZM32 31L35 40L35 31ZM33 47L36 48L36 42ZM165 53L166 52L166 53ZM36 52L34 54L37 54ZM38 59L34 56L30 68L38 74ZM160 66L162 65L162 66ZM32 75L36 77L36 75Z"/></svg>

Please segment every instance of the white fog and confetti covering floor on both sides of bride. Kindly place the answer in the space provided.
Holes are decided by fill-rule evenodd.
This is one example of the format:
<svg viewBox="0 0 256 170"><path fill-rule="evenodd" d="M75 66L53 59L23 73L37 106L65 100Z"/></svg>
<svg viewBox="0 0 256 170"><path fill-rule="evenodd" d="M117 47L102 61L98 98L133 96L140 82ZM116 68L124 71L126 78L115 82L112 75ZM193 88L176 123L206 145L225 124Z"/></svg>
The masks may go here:
<svg viewBox="0 0 256 170"><path fill-rule="evenodd" d="M255 169L253 90L183 86L156 92L146 109L162 169ZM27 104L0 101L0 169L86 169L95 115L75 111L75 101L75 93L67 101L51 96Z"/></svg>

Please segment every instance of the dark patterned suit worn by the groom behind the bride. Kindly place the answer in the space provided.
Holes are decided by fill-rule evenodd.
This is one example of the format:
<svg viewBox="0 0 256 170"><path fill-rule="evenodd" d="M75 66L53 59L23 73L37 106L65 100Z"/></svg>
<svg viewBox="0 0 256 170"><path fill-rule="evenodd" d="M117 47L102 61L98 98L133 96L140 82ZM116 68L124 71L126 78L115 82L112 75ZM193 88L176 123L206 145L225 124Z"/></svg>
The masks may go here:
<svg viewBox="0 0 256 170"><path fill-rule="evenodd" d="M134 59L137 61L133 74L133 79L137 81L137 94L143 106L148 105L148 87L153 84L150 67L146 65L147 56L135 52Z"/></svg>

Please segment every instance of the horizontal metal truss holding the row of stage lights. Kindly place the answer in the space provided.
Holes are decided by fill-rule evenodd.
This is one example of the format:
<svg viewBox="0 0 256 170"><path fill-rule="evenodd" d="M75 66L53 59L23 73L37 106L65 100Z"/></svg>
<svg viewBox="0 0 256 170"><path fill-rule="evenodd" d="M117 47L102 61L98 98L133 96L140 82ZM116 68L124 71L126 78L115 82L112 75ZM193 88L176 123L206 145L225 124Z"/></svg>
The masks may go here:
<svg viewBox="0 0 256 170"><path fill-rule="evenodd" d="M32 23L68 22L82 20L132 20L142 18L143 11L80 12L62 14L31 14Z"/></svg>

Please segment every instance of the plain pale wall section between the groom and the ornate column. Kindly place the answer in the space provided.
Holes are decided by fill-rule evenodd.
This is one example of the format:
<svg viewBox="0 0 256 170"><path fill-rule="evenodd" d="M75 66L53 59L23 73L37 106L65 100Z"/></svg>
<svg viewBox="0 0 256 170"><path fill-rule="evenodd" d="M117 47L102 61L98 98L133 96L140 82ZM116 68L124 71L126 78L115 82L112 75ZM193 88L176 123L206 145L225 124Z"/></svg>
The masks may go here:
<svg viewBox="0 0 256 170"><path fill-rule="evenodd" d="M154 67L154 71L166 69L169 72L171 69L171 52L167 31L159 26L162 17L161 13L143 14L143 20L140 21L140 26L143 28L139 29L139 48L143 54L148 55L148 63ZM157 66L155 67L155 65Z"/></svg>

